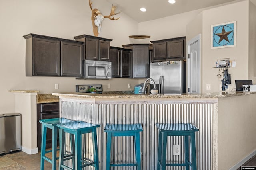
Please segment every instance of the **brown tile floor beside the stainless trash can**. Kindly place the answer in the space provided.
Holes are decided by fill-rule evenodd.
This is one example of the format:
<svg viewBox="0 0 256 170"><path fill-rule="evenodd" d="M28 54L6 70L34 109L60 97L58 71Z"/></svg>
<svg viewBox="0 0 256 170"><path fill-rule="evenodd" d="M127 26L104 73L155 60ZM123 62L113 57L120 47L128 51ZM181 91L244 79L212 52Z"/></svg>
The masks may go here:
<svg viewBox="0 0 256 170"><path fill-rule="evenodd" d="M58 153L57 153L58 154ZM0 170L40 170L40 153L26 154L25 152L16 152L0 156ZM51 153L46 154L51 158ZM44 161L44 169L51 170L52 164ZM57 160L58 169L58 160Z"/></svg>

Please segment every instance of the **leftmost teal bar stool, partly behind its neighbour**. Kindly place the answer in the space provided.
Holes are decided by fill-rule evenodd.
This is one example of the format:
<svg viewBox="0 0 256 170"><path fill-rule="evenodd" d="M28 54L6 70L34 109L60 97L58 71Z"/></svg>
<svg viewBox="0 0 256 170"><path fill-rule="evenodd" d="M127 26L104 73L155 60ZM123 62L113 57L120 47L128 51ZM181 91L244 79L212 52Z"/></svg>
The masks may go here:
<svg viewBox="0 0 256 170"><path fill-rule="evenodd" d="M58 123L71 122L72 120L66 118L53 118L53 119L42 119L39 122L42 123L42 141L41 141L41 165L40 169L44 170L44 160L52 164L52 170L56 170L57 157L57 134L58 134ZM45 150L46 147L46 133L47 128L52 129L52 150ZM52 152L52 159L45 156L46 153Z"/></svg>

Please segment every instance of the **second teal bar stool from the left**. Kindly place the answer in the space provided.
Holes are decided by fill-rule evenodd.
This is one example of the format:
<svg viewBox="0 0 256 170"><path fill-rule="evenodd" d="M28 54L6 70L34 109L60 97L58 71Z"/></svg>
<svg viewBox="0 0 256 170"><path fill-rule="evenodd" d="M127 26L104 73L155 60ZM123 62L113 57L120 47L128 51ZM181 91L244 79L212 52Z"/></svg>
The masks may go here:
<svg viewBox="0 0 256 170"><path fill-rule="evenodd" d="M97 145L97 127L100 125L86 123L84 121L74 121L69 123L60 123L57 125L60 128L60 160L59 160L59 169L63 170L81 170L86 166L94 166L95 170L99 170L99 158L98 158L98 145ZM70 133L74 135L75 139L75 166L70 168L64 165L64 161L68 160L66 158L64 160L64 146L65 146L65 133ZM93 145L93 152L94 152L94 161L88 162L82 160L82 134L92 133L92 145ZM83 163L83 165L82 165Z"/></svg>

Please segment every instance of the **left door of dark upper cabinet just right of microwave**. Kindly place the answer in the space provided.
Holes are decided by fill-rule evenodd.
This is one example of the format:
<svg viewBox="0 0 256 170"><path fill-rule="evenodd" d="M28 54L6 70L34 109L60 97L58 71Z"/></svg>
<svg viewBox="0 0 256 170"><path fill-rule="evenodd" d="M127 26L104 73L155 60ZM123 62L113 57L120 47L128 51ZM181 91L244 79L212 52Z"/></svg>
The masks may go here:
<svg viewBox="0 0 256 170"><path fill-rule="evenodd" d="M111 61L111 76L112 77L121 77L120 74L120 50L110 49L110 61Z"/></svg>

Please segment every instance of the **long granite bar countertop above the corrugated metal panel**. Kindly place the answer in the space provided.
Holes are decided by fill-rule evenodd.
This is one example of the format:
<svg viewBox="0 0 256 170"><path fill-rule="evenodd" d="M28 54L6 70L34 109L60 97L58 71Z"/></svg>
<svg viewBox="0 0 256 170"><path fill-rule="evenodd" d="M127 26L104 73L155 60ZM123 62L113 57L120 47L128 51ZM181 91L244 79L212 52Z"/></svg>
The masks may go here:
<svg viewBox="0 0 256 170"><path fill-rule="evenodd" d="M256 92L219 92L219 93L205 93L205 94L92 94L92 93L75 93L63 92L52 93L56 96L76 97L76 98L226 98L233 96L242 96L248 94L256 94Z"/></svg>

